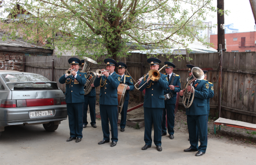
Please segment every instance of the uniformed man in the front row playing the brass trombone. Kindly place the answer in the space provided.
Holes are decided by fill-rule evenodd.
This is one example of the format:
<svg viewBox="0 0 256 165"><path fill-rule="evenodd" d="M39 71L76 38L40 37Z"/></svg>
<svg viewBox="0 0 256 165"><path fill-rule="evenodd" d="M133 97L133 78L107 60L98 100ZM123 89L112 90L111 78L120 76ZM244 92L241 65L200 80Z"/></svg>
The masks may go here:
<svg viewBox="0 0 256 165"><path fill-rule="evenodd" d="M154 144L156 145L156 149L158 151L162 151L162 115L164 108L164 89L168 87L167 76L159 73L159 64L162 62L157 58L149 58L147 62L150 65L150 70L158 73L158 79L154 79L155 74L151 74L151 72L144 76L142 82L140 83L139 90L143 91L146 89L144 96L144 121L145 121L145 132L144 132L144 141L145 145L142 147L142 150L148 149L152 145L152 124L154 123ZM151 79L154 79L152 81Z"/></svg>

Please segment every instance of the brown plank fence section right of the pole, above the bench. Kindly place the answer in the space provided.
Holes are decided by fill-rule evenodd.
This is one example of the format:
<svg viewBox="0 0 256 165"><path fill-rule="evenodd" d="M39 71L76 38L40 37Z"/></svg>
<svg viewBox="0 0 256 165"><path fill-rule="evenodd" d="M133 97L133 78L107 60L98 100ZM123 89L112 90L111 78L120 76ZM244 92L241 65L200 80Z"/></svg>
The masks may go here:
<svg viewBox="0 0 256 165"><path fill-rule="evenodd" d="M256 124L256 53L225 52L220 116Z"/></svg>

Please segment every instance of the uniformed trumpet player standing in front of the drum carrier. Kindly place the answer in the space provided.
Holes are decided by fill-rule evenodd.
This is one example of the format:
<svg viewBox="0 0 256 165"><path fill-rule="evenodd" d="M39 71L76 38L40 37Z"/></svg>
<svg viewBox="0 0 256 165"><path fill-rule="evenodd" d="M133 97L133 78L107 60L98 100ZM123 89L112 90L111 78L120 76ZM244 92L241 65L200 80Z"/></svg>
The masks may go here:
<svg viewBox="0 0 256 165"><path fill-rule="evenodd" d="M103 139L98 144L108 143L110 141L109 125L111 126L111 140L110 147L114 147L118 141L118 98L117 88L121 81L121 76L118 75L114 69L117 66L117 62L113 59L104 59L106 63L106 70L102 69L101 74L98 75L94 81L94 86L100 86L100 117L101 126L103 132Z"/></svg>

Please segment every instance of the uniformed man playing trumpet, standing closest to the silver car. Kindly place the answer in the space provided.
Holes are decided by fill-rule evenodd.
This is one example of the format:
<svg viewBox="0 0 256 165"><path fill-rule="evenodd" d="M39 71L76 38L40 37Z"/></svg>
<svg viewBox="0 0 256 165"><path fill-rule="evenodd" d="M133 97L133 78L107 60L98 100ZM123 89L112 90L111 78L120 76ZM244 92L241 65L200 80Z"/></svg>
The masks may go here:
<svg viewBox="0 0 256 165"><path fill-rule="evenodd" d="M73 57L68 59L68 63L71 65L69 69L71 74L66 73L60 77L59 82L61 84L66 83L66 93L64 94L70 130L70 138L67 141L76 139L76 143L78 143L83 137L84 84L86 83L86 78L84 73L78 71L79 65L81 65L80 59Z"/></svg>

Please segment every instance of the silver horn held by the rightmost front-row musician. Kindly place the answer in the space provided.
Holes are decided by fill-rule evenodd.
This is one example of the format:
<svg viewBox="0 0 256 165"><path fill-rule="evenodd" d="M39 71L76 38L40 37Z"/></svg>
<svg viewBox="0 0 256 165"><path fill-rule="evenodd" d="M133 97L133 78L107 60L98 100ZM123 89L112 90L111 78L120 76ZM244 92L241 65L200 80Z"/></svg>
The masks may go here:
<svg viewBox="0 0 256 165"><path fill-rule="evenodd" d="M184 88L185 90L183 93L183 98L182 98L182 104L184 105L185 108L189 108L192 105L192 102L194 100L195 89L191 85L191 83L196 80L204 79L204 71L202 71L202 69L198 67L193 67L191 72L192 72L192 75L187 79L188 83L186 83L186 86ZM188 89L187 89L188 86L191 86L190 92L188 92Z"/></svg>

